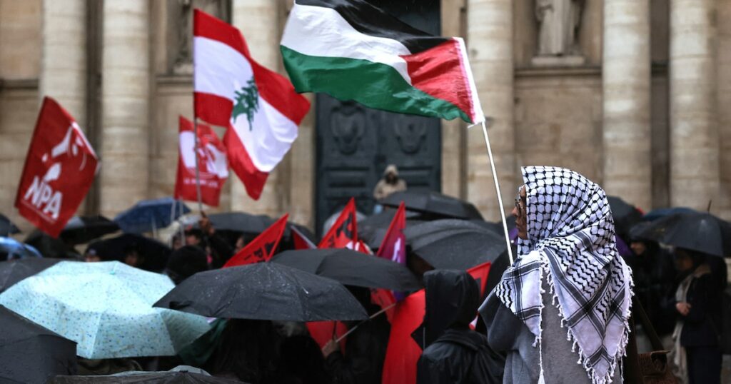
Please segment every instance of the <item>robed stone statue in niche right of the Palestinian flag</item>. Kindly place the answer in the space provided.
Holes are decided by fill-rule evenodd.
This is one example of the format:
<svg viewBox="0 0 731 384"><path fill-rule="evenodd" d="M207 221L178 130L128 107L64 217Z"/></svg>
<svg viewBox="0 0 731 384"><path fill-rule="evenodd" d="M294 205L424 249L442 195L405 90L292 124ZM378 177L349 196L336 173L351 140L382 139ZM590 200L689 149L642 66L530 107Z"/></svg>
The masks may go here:
<svg viewBox="0 0 731 384"><path fill-rule="evenodd" d="M538 56L579 56L577 32L584 0L536 0Z"/></svg>

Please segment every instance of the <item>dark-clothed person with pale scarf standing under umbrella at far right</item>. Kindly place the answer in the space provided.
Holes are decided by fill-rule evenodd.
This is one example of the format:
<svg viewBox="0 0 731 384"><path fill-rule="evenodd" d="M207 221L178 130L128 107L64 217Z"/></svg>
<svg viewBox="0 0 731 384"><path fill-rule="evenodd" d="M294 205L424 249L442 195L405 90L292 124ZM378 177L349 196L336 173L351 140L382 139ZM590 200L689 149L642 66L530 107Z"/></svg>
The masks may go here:
<svg viewBox="0 0 731 384"><path fill-rule="evenodd" d="M670 301L679 315L673 331L673 373L682 383L721 383L719 332L725 282L719 284L708 263L711 257L675 248L675 265L684 277L675 291L675 300Z"/></svg>

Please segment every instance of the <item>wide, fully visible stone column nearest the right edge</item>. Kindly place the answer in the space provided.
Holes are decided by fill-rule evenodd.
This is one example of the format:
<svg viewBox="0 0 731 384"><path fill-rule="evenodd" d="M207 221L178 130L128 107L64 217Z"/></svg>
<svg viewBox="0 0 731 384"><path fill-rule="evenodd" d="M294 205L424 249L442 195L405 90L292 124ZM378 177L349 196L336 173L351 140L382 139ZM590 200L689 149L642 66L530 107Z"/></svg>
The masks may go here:
<svg viewBox="0 0 731 384"><path fill-rule="evenodd" d="M670 205L702 211L719 201L715 4L670 1Z"/></svg>

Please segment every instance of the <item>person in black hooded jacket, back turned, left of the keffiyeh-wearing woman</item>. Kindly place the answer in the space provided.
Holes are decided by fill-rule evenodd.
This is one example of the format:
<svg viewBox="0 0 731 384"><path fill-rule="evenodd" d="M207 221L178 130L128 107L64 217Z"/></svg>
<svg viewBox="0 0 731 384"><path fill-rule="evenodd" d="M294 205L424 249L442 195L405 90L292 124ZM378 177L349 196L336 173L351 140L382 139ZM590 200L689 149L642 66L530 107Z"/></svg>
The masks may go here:
<svg viewBox="0 0 731 384"><path fill-rule="evenodd" d="M424 274L424 287L424 322L413 334L424 350L417 383L502 383L504 358L469 328L480 304L477 282L464 271L437 270Z"/></svg>

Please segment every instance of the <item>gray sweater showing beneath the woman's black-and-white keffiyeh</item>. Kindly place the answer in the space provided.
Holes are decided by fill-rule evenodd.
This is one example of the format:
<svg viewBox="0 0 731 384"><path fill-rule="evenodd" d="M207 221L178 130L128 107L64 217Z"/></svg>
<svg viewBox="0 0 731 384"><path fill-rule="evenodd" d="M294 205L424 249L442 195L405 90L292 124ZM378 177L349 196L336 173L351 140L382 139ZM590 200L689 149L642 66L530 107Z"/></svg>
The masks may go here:
<svg viewBox="0 0 731 384"><path fill-rule="evenodd" d="M544 290L548 286L544 282ZM535 384L540 375L539 348L533 347L535 340L525 323L515 317L504 306L494 292L488 297L483 313L492 313L485 318L488 328L488 342L494 350L507 353L503 383ZM543 379L546 384L591 383L586 369L577 364L579 355L572 352L572 342L567 339L567 328L561 328L558 309L550 302L550 295L543 295L542 339ZM612 383L621 383L621 370L616 369Z"/></svg>

